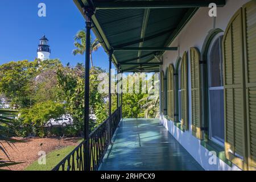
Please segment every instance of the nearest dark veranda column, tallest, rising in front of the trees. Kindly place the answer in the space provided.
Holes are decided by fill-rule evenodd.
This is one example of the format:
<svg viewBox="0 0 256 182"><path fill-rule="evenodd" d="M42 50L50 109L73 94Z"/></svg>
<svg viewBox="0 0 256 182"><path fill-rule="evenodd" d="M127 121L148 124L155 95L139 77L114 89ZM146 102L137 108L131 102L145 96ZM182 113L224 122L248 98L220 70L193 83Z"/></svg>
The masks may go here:
<svg viewBox="0 0 256 182"><path fill-rule="evenodd" d="M93 10L84 9L86 15L86 47L85 47L85 89L84 89L84 169L90 171L90 140L89 140L89 72L90 72L90 29L92 28Z"/></svg>

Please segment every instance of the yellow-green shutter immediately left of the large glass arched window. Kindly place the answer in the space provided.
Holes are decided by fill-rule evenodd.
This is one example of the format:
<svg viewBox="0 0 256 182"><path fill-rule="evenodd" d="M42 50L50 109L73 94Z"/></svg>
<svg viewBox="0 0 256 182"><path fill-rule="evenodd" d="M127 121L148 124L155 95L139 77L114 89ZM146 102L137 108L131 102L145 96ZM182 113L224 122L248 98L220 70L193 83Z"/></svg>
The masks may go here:
<svg viewBox="0 0 256 182"><path fill-rule="evenodd" d="M192 105L192 134L203 139L201 119L201 75L200 75L200 53L197 48L190 49L191 60L191 105Z"/></svg>

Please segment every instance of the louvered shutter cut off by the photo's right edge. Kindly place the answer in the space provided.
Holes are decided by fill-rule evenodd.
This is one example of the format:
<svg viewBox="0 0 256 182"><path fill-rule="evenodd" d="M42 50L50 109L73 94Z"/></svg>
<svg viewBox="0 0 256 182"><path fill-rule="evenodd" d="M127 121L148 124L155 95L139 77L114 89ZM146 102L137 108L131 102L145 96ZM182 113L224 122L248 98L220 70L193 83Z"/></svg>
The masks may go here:
<svg viewBox="0 0 256 182"><path fill-rule="evenodd" d="M247 148L250 170L256 170L256 1L243 6Z"/></svg>

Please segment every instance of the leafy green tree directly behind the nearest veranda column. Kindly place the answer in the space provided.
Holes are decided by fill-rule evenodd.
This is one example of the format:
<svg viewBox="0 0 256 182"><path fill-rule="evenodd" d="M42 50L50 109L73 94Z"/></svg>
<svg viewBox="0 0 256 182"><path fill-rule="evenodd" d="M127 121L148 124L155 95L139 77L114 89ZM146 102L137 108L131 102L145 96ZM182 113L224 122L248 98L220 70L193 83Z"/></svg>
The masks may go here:
<svg viewBox="0 0 256 182"><path fill-rule="evenodd" d="M98 75L104 71L98 67L90 69L90 114L96 114L97 122L90 122L91 129L107 117L104 94L100 94L97 86L100 83ZM74 118L74 123L78 131L84 127L84 68L81 64L75 69L65 68L57 73L59 88L63 90L67 111Z"/></svg>

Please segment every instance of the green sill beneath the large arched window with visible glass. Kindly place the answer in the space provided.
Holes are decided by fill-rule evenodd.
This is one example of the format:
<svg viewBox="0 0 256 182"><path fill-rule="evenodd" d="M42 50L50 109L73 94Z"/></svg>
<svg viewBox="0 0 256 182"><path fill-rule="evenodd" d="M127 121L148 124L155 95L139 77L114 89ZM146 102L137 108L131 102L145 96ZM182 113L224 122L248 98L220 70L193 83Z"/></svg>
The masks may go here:
<svg viewBox="0 0 256 182"><path fill-rule="evenodd" d="M222 160L224 163L228 164L228 166L232 167L232 162L230 162L225 157L225 149L224 147L212 142L211 140L201 140L201 146L205 147L209 151L215 151L217 157Z"/></svg>

